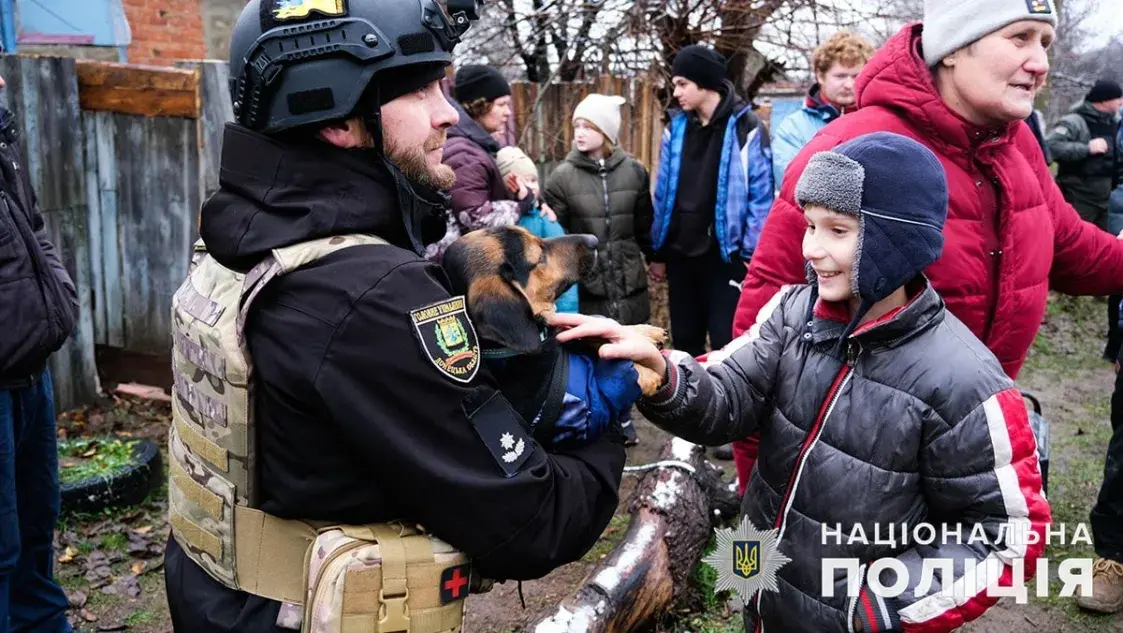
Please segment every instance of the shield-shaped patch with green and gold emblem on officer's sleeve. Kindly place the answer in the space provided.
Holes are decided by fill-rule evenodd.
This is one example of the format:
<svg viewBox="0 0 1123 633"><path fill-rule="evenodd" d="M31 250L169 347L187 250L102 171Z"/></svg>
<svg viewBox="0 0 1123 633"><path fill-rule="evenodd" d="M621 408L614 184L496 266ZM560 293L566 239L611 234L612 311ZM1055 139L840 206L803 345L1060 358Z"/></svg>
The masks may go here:
<svg viewBox="0 0 1123 633"><path fill-rule="evenodd" d="M480 371L480 339L464 296L410 311L421 350L441 374L471 383Z"/></svg>

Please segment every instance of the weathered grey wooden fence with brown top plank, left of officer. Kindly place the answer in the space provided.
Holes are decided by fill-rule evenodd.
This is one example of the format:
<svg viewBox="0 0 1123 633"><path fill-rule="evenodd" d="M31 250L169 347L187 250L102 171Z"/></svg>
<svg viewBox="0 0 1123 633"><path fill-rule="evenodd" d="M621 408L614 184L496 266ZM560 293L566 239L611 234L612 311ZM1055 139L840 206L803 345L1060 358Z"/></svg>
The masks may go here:
<svg viewBox="0 0 1123 633"><path fill-rule="evenodd" d="M167 357L172 295L200 202L217 187L216 123L200 122L213 110L201 95L225 72L0 57L0 103L16 114L40 211L79 288L77 332L51 361L60 410L95 397L103 352Z"/></svg>

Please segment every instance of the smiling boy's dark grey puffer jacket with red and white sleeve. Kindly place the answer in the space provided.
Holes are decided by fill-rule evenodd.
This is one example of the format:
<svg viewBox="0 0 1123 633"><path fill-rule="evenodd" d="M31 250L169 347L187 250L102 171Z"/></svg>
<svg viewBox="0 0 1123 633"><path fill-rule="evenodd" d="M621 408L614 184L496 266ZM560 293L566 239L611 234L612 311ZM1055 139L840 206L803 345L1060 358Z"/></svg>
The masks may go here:
<svg viewBox="0 0 1123 633"><path fill-rule="evenodd" d="M1012 561L1024 559L1029 578L1044 549L1044 539L1028 536L1043 535L1051 519L1025 405L926 283L906 306L859 328L846 363L833 350L848 310L832 314L837 305L819 303L809 319L811 297L809 286L785 288L706 368L670 354L667 385L641 400L640 411L703 444L761 433L742 513L758 530L778 530L792 561L779 569L778 593L759 591L746 605L746 631L839 633L852 631L856 618L867 632L951 631L994 598L974 584L962 599L941 596L952 580L942 574L923 590L924 559L950 563L956 580L971 560L1008 585L1003 572ZM913 540L924 523L935 529L930 545ZM891 540L891 524L898 542L876 542ZM902 525L907 542L900 542ZM824 538L836 529L841 539ZM999 538L999 530L1022 536ZM919 535L926 539L926 530ZM861 563L855 597L847 597L843 569L834 571L834 596L823 597L824 558ZM894 598L870 591L865 578L866 566L884 558L909 571ZM882 582L893 585L894 574Z"/></svg>

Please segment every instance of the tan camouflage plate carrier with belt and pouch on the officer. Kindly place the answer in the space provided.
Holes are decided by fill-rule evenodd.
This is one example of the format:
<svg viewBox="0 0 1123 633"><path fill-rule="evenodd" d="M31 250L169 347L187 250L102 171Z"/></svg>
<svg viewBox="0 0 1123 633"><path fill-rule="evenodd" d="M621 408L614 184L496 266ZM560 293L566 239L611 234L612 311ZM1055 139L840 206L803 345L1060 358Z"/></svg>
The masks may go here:
<svg viewBox="0 0 1123 633"><path fill-rule="evenodd" d="M463 617L467 559L419 526L328 525L257 510L249 306L276 276L341 248L385 244L323 238L274 249L240 274L200 242L172 302L172 534L219 582L283 603L285 629L440 633Z"/></svg>

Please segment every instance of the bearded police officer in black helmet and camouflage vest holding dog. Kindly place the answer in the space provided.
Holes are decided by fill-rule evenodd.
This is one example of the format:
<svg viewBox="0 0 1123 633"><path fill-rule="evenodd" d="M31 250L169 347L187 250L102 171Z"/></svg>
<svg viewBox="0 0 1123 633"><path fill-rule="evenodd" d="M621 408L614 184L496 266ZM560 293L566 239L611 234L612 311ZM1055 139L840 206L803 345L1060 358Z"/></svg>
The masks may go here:
<svg viewBox="0 0 1123 633"><path fill-rule="evenodd" d="M247 590L293 556L266 553L270 525L419 524L473 577L530 579L583 556L615 510L619 434L537 444L481 368L464 297L421 257L453 183L438 80L478 17L457 4L252 0L235 26L237 122L173 306L176 631L283 630L282 603Z"/></svg>

